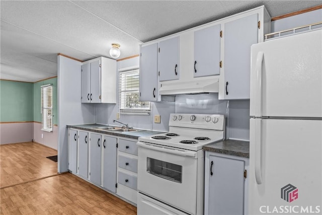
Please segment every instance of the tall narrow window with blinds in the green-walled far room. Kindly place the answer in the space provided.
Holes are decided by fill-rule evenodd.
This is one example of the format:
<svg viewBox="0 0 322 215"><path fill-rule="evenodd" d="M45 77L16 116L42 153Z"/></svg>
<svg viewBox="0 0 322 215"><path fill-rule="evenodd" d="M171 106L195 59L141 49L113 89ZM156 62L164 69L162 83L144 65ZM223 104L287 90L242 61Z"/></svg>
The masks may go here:
<svg viewBox="0 0 322 215"><path fill-rule="evenodd" d="M52 86L41 86L41 130L52 131Z"/></svg>

